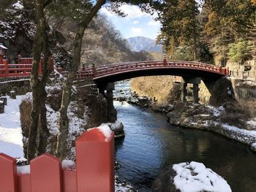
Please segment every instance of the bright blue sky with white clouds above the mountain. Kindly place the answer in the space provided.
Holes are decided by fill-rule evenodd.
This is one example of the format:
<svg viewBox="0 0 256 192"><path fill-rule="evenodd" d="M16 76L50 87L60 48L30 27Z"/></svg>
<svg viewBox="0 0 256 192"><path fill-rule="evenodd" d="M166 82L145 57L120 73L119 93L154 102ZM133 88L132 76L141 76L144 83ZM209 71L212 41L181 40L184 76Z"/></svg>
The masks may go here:
<svg viewBox="0 0 256 192"><path fill-rule="evenodd" d="M107 15L112 21L116 29L121 32L122 36L127 39L129 37L143 36L156 39L160 31L159 21L155 21L156 15L149 15L141 12L140 8L134 5L124 4L121 10L127 14L127 17L121 18L114 13L109 12L105 7L100 12Z"/></svg>

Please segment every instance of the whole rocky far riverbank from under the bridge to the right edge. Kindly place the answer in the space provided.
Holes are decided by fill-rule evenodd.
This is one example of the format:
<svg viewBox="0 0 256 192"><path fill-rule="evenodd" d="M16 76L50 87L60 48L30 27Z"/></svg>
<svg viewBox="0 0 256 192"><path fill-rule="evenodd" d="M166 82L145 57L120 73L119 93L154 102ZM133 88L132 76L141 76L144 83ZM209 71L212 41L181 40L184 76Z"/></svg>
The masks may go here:
<svg viewBox="0 0 256 192"><path fill-rule="evenodd" d="M256 151L256 118L251 118L248 110L236 100L226 101L220 107L177 101L174 104L157 104L154 99L139 96L130 89L119 91L115 98L117 101L127 101L128 104L150 107L154 112L162 112L167 115L168 122L173 126L213 131L249 145Z"/></svg>

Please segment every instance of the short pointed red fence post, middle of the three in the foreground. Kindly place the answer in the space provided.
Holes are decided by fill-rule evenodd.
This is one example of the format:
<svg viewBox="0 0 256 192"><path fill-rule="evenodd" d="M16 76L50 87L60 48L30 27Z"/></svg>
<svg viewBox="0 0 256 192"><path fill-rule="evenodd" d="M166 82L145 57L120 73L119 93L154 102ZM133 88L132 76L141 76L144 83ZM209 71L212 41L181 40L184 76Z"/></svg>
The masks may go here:
<svg viewBox="0 0 256 192"><path fill-rule="evenodd" d="M31 192L61 192L61 163L48 153L34 158L30 164Z"/></svg>

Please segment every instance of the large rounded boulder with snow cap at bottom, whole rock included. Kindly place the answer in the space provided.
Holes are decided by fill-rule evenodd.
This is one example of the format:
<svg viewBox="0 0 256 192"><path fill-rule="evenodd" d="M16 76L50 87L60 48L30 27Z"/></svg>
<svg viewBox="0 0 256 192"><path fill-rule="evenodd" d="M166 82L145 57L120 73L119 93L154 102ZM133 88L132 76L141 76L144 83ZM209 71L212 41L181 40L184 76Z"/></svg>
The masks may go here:
<svg viewBox="0 0 256 192"><path fill-rule="evenodd" d="M174 164L164 169L152 185L153 192L230 192L227 182L203 164Z"/></svg>

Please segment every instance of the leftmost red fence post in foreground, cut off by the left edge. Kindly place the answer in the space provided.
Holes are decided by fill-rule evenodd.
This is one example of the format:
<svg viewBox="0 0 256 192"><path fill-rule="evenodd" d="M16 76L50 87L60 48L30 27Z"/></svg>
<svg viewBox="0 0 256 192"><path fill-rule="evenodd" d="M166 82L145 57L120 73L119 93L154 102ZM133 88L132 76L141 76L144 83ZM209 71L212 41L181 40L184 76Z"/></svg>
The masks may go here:
<svg viewBox="0 0 256 192"><path fill-rule="evenodd" d="M17 192L16 160L4 153L0 153L0 190L3 192Z"/></svg>

